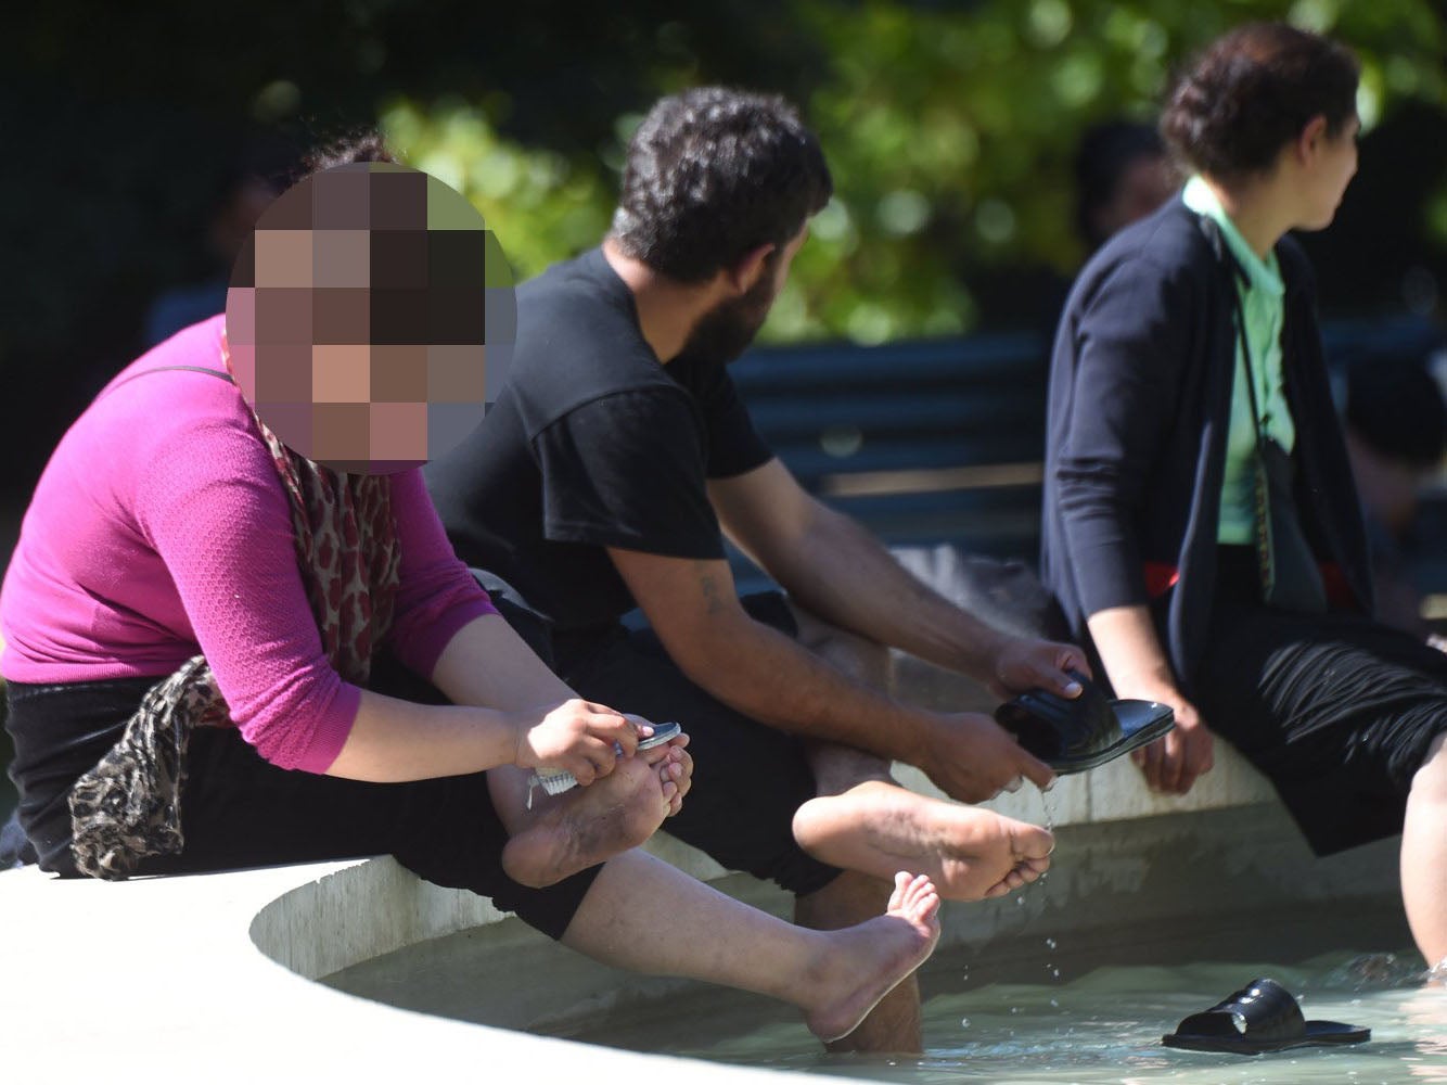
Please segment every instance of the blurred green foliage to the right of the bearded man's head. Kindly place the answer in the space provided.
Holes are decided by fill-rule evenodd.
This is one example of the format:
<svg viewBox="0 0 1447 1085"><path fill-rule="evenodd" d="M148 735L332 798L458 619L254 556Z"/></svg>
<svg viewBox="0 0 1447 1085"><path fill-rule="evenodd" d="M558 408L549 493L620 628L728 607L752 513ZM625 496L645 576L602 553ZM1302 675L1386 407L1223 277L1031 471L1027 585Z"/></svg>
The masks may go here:
<svg viewBox="0 0 1447 1085"><path fill-rule="evenodd" d="M1243 20L1286 16L1353 45L1369 130L1404 103L1447 104L1443 16L1424 0L985 0L967 12L802 0L799 10L832 59L809 114L852 229L818 239L793 326L776 328L784 334L967 330L981 314L956 284L983 301L1004 266L1068 273L1082 256L1071 230L1079 133L1111 117L1152 120L1174 68ZM1438 195L1411 208L1438 256L1441 166ZM1030 308L994 304L1016 318Z"/></svg>

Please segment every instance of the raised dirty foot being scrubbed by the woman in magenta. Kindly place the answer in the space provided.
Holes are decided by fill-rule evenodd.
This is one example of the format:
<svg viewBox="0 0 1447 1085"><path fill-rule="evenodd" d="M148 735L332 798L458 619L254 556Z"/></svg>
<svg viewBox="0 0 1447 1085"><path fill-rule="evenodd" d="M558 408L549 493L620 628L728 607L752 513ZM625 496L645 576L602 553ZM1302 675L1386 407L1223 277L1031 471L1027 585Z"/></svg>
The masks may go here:
<svg viewBox="0 0 1447 1085"><path fill-rule="evenodd" d="M553 799L502 849L502 869L541 888L637 848L663 825L686 780L683 751L645 749L612 773ZM667 778L666 778L667 777Z"/></svg>

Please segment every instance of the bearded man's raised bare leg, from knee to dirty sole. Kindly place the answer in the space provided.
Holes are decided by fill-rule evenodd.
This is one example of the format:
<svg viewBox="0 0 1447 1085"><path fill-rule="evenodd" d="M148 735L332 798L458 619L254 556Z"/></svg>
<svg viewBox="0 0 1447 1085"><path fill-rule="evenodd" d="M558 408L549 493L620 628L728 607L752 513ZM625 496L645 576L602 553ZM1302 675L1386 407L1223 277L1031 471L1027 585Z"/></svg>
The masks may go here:
<svg viewBox="0 0 1447 1085"><path fill-rule="evenodd" d="M887 648L792 610L800 644L855 680L888 689ZM1049 868L1055 839L1045 829L909 791L883 758L848 746L812 744L809 762L819 797L794 814L794 839L818 859L877 877L919 869L946 900L1000 897Z"/></svg>

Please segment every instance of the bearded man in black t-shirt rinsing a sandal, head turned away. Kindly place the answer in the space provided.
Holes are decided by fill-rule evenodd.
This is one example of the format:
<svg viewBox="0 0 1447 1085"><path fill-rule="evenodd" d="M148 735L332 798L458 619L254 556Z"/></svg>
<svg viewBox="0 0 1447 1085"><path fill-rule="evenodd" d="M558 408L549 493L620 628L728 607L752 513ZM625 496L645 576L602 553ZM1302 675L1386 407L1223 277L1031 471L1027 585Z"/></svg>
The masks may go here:
<svg viewBox="0 0 1447 1085"><path fill-rule="evenodd" d="M425 470L457 553L553 626L583 697L692 738L693 790L669 830L774 878L836 927L909 868L978 900L1033 881L1036 826L897 787L888 760L980 801L1051 770L978 713L891 699L887 647L1000 692L1078 693L1078 648L1006 637L906 573L768 451L726 363L752 340L806 221L831 195L815 136L780 98L664 98L629 145L601 249L518 291L496 405ZM789 593L739 599L724 532ZM650 629L619 619L641 608ZM845 632L849 629L852 632ZM839 868L845 868L841 872ZM919 1046L901 985L849 1046Z"/></svg>

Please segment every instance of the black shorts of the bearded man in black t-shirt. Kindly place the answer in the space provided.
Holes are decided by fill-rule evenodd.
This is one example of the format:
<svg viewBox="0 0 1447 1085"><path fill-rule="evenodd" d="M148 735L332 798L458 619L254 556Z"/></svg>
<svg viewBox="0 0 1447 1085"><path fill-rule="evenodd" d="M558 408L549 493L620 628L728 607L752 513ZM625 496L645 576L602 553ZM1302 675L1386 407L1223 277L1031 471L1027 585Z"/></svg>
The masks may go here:
<svg viewBox="0 0 1447 1085"><path fill-rule="evenodd" d="M745 596L755 621L797 637L778 592ZM793 836L794 812L815 797L813 771L800 739L764 726L693 684L651 629L615 626L582 637L556 634L559 674L580 696L657 723L677 720L689 733L693 790L664 822L671 836L722 865L768 878L794 894L823 888L839 871L806 855Z"/></svg>

